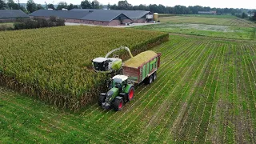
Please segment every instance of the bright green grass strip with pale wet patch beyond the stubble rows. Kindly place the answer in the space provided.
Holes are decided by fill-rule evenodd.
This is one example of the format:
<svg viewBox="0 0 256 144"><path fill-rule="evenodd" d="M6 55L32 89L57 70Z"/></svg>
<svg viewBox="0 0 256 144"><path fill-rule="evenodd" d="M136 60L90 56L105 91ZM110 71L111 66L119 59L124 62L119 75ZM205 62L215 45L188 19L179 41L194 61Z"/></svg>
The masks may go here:
<svg viewBox="0 0 256 144"><path fill-rule="evenodd" d="M222 19L222 18L219 18ZM164 22L158 25L136 26L138 30L156 30L176 34L200 35L214 38L256 40L256 28L246 26L218 26L191 23Z"/></svg>

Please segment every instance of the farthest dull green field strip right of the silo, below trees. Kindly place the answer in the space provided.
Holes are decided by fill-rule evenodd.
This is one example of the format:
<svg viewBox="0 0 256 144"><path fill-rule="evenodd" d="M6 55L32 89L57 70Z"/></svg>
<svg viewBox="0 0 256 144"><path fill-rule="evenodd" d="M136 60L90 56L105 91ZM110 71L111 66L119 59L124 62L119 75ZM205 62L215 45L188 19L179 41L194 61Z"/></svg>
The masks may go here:
<svg viewBox="0 0 256 144"><path fill-rule="evenodd" d="M206 18L206 17L186 17L186 16L174 16L159 18L161 22L173 22L173 23L194 23L194 24L206 24L206 25L219 25L219 26L248 26L255 27L254 22L244 20L242 18Z"/></svg>

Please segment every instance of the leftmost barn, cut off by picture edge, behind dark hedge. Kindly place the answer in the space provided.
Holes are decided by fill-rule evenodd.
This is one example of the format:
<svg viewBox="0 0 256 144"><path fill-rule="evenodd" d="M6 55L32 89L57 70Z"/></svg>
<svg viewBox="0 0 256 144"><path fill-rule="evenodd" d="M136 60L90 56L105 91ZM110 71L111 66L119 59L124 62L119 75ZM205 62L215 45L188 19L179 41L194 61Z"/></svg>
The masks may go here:
<svg viewBox="0 0 256 144"><path fill-rule="evenodd" d="M17 18L30 18L22 10L0 10L0 22L15 22Z"/></svg>

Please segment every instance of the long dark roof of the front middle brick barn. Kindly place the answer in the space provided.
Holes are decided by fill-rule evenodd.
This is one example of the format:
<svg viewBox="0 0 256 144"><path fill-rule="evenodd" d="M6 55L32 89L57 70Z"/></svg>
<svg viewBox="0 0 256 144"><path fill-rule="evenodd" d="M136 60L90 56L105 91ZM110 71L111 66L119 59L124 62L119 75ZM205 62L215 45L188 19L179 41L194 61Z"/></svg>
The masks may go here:
<svg viewBox="0 0 256 144"><path fill-rule="evenodd" d="M117 11L76 11L76 10L38 10L31 13L30 16L34 17L50 17L56 16L58 18L69 18L69 19L82 19L82 20L92 20L92 21L102 21L110 22L114 18L117 18L122 13ZM125 15L125 14L124 14ZM125 15L126 16L126 15ZM130 19L126 16L126 18Z"/></svg>

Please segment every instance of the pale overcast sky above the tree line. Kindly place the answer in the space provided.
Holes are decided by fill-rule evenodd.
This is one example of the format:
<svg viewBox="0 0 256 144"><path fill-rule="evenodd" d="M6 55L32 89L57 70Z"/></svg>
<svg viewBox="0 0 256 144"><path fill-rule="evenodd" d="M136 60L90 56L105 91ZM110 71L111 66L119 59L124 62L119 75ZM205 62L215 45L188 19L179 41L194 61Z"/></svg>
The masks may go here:
<svg viewBox="0 0 256 144"><path fill-rule="evenodd" d="M17 0L16 0L17 1ZM80 4L82 0L34 0L36 3L53 3L57 4L58 2L67 2L73 4ZM92 0L91 0L92 1ZM119 0L98 0L98 2L106 5L108 3L114 4L118 3ZM139 4L162 4L164 6L210 6L210 7L220 7L220 8L248 8L248 9L256 9L256 1L255 0L127 0L133 6ZM27 0L20 0L21 3L26 3Z"/></svg>

